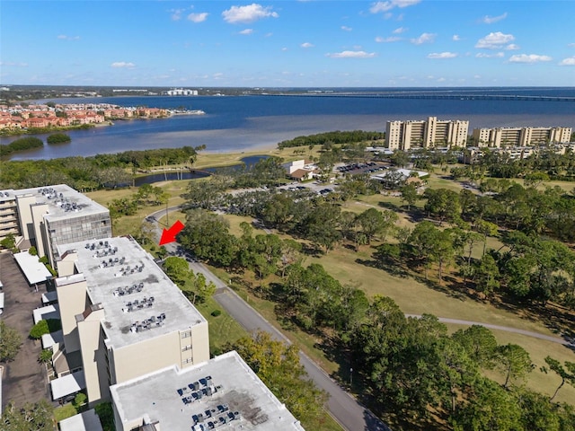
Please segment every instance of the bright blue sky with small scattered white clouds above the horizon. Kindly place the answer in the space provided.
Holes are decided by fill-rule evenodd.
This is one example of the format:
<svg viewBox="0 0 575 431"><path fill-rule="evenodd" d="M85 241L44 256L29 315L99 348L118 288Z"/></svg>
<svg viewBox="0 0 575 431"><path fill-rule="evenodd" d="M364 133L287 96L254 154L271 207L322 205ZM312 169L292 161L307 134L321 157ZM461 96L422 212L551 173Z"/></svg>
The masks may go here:
<svg viewBox="0 0 575 431"><path fill-rule="evenodd" d="M0 4L2 84L574 86L575 2Z"/></svg>

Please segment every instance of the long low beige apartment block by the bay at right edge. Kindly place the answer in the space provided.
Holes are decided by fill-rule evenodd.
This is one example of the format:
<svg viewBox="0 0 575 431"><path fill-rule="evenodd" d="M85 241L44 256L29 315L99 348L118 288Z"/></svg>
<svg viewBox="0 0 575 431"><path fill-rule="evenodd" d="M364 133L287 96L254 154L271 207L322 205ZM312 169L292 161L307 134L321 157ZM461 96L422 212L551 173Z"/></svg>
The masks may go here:
<svg viewBox="0 0 575 431"><path fill-rule="evenodd" d="M541 144L567 144L571 128L474 128L473 141L477 146L501 148Z"/></svg>

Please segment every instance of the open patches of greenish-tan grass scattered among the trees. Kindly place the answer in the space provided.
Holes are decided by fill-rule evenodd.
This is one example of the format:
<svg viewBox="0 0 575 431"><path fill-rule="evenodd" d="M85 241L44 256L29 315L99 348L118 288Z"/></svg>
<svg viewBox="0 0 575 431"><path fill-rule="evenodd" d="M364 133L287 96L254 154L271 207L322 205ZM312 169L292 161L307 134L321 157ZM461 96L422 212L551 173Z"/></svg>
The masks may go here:
<svg viewBox="0 0 575 431"><path fill-rule="evenodd" d="M289 154L292 152L291 150L292 149L284 150L284 152ZM253 154L263 153L258 152ZM237 157L239 160L239 158L247 155L250 154L235 154L234 157ZM209 154L209 157L209 163L217 163L217 159L219 159L219 163L222 163L222 165L230 164L231 160L229 154ZM437 176L432 176L430 184L432 184L433 187L445 187L455 190L461 189L461 185L455 181L441 179ZM171 194L172 198L170 198L170 202L168 204L170 207L181 204L183 199L180 197L180 194L185 190L186 185L187 181L185 180L155 184L155 186L162 187L165 191L168 191ZM571 183L569 183L569 185L571 186ZM127 197L135 191L135 189L111 191L102 190L89 193L88 196L105 205L114 198ZM401 205L402 202L400 198L374 195L371 197L361 198L361 200L357 202L346 203L342 209L359 213L365 211L368 207L398 208ZM122 217L114 225L114 234L131 233L135 228L134 226L139 225L147 214L156 209L160 208L142 208L138 211L136 216ZM181 218L181 221L185 222L182 214L172 215L170 222L173 223L176 218ZM248 217L226 216L226 218L230 221L231 232L236 235L241 233L239 224L242 221L250 221ZM400 213L399 224L412 226L413 221L405 213ZM254 233L260 232L258 231ZM496 238L490 238L488 241L488 247L497 249L500 245L500 242ZM480 256L481 251L482 244L478 244L473 251L473 256ZM321 263L323 267L326 268L333 277L339 279L341 283L358 286L359 288L364 289L369 296L390 296L396 303L398 303L403 312L406 313L420 314L423 312L429 312L440 317L489 322L492 324L509 326L511 328L532 330L546 335L553 335L553 332L547 329L541 321L533 319L521 310L512 309L505 304L500 304L498 306L478 301L472 296L464 295L457 291L450 291L447 288L441 288L434 286L433 284L426 284L425 280L422 279L417 279L411 276L395 276L385 270L369 266L368 263L371 259L372 252L373 250L370 249L369 246L363 246L358 252L351 251L348 248L340 246L320 258L307 258L305 263ZM220 272L222 271L217 271L218 275L224 276L224 274L220 274ZM429 275L431 277L435 277L434 272L430 271ZM226 278L229 279L229 277ZM243 297L249 295L250 303L252 303L252 305L258 309L264 317L275 322L278 326L280 325L279 321L276 319L273 303L256 298L253 295L250 295L248 291L243 291L242 295ZM209 316L209 312L213 311L213 309L209 309L210 306L213 306L213 304L207 305L208 308L204 311L204 314L207 314L207 317ZM212 319L211 316L208 318ZM232 323L226 321L226 318L223 318L223 314L213 319L213 321L214 330L216 332L212 336L210 328L210 337L213 338L213 340L211 340L212 348L217 349L225 345L227 342L226 337L228 336L228 332L232 339L234 339L234 337L239 338L241 336L239 335L241 331L236 332L236 330L232 328ZM211 325L212 322L210 321L210 326ZM290 329L290 331L287 331L287 335L289 339L292 339L292 341L302 346L305 352L312 356L315 361L320 363L320 365L322 365L329 374L338 372L339 365L333 363L324 355L323 351L316 348L315 344L318 339L314 339L301 331L293 330L293 328ZM500 343L514 342L525 347L531 354L532 359L537 366L544 363L543 358L546 355L553 356L562 361L575 361L575 354L573 351L556 343L545 342L539 339L531 339L507 332L499 332L496 335L500 340ZM494 374L494 378L497 378L497 375ZM556 380L557 378L552 374L546 375L537 369L529 375L526 384L528 387L535 388L538 391L550 393L556 387ZM563 388L562 391L560 391L559 397L561 400L568 400L575 403L575 397L572 395L573 393L571 392L571 389Z"/></svg>

